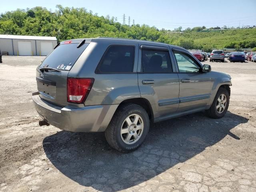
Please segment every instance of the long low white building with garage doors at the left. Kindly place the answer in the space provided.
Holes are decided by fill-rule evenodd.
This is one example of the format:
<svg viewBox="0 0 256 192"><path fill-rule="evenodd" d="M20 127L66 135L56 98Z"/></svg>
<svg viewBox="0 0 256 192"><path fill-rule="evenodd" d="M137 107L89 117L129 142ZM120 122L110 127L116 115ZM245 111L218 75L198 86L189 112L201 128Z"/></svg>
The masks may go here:
<svg viewBox="0 0 256 192"><path fill-rule="evenodd" d="M46 56L56 45L56 37L0 35L0 51L8 55Z"/></svg>

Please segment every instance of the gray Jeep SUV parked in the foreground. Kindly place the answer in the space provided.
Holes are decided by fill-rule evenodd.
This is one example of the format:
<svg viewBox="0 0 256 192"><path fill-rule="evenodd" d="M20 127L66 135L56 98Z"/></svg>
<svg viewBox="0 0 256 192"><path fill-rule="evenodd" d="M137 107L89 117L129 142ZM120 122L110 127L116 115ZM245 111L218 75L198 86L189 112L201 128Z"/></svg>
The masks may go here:
<svg viewBox="0 0 256 192"><path fill-rule="evenodd" d="M74 39L58 43L38 66L32 98L40 125L105 132L110 146L129 152L145 140L150 123L202 110L223 117L230 80L178 46Z"/></svg>

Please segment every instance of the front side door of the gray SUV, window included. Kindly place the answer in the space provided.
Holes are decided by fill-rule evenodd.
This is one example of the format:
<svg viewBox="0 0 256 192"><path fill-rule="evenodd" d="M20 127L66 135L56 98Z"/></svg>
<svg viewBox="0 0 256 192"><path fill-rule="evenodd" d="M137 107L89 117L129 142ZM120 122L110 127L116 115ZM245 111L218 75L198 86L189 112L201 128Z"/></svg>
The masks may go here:
<svg viewBox="0 0 256 192"><path fill-rule="evenodd" d="M201 65L187 52L173 49L173 53L179 70L180 105L178 112L207 106L214 83L211 73L200 72Z"/></svg>

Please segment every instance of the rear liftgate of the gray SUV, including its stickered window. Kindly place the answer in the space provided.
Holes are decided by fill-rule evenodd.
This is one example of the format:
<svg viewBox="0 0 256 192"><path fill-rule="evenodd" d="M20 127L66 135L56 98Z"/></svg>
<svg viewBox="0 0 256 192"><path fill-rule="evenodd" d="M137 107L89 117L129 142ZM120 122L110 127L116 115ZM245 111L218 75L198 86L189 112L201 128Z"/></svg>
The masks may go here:
<svg viewBox="0 0 256 192"><path fill-rule="evenodd" d="M68 72L76 63L89 43L84 43L77 48L80 42L66 42L57 46L37 68L36 81L40 97L58 106L66 106L67 102L67 77ZM60 70L40 71L43 67Z"/></svg>

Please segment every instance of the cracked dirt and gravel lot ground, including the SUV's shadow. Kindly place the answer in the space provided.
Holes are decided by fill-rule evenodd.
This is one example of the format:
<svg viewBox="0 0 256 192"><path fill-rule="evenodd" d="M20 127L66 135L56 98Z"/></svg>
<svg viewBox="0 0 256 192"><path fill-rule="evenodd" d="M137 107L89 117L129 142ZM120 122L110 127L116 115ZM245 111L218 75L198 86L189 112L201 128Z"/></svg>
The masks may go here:
<svg viewBox="0 0 256 192"><path fill-rule="evenodd" d="M232 76L226 116L152 124L144 144L122 154L103 133L38 126L32 92L43 59L0 64L1 192L256 192L256 63L203 62Z"/></svg>

